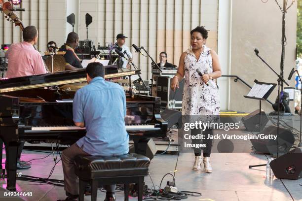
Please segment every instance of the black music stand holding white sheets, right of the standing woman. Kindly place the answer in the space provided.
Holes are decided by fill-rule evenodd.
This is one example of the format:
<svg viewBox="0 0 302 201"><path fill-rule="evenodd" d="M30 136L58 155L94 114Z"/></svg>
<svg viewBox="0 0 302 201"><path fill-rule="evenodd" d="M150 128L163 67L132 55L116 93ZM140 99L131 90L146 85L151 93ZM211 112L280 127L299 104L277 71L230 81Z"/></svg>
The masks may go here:
<svg viewBox="0 0 302 201"><path fill-rule="evenodd" d="M254 99L254 100L259 100L259 134L261 134L262 127L261 127L261 101L266 100L268 96L271 94L271 92L274 90L277 84L273 83L267 83L267 82L259 82L258 80L254 81L256 84L253 86L251 89L250 93L247 96L243 96L244 98L247 99ZM258 93L257 93L258 91ZM278 136L277 136L277 140ZM277 147L277 152L278 152L278 147ZM260 166L266 166L266 164L261 164L261 165L254 165L254 166L249 166L251 167L260 167Z"/></svg>

